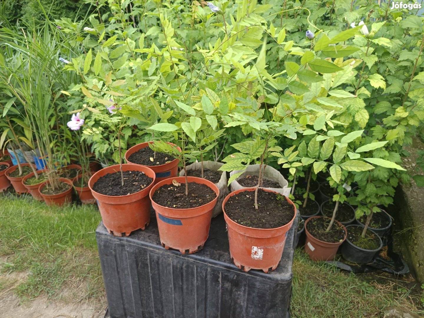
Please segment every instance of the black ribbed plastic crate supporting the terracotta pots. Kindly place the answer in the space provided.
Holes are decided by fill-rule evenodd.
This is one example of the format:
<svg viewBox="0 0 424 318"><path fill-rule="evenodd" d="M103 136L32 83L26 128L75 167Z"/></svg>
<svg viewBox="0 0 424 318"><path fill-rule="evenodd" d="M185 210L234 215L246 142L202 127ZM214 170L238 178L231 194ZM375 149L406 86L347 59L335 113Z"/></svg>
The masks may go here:
<svg viewBox="0 0 424 318"><path fill-rule="evenodd" d="M293 240L288 232L279 266L243 272L230 259L223 215L213 218L204 248L184 255L160 245L156 216L129 237L96 237L111 318L290 317Z"/></svg>

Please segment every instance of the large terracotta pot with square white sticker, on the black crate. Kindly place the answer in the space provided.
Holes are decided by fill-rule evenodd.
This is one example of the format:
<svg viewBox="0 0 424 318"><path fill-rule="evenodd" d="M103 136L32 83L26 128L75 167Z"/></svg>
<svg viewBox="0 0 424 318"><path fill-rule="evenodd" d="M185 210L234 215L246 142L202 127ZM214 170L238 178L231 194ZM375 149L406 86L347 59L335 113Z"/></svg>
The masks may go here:
<svg viewBox="0 0 424 318"><path fill-rule="evenodd" d="M293 205L293 218L286 225L274 229L257 229L243 226L230 219L225 212L225 204L228 199L237 193L254 192L255 190L256 188L246 188L231 192L224 199L222 209L227 223L230 255L234 265L246 272L254 268L268 273L268 271L276 269L280 262L287 232L296 218L296 206L286 197L287 201ZM265 188L262 188L262 190L277 193Z"/></svg>

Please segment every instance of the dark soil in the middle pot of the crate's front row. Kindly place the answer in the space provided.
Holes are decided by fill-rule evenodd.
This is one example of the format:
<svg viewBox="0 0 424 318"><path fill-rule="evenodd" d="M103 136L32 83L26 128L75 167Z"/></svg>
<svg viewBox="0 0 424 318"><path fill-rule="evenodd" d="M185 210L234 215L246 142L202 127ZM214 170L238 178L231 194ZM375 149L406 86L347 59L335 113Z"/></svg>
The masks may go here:
<svg viewBox="0 0 424 318"><path fill-rule="evenodd" d="M175 182L165 184L153 194L153 201L161 206L173 209L191 209L209 203L216 198L216 193L206 184L188 183L188 195L185 184Z"/></svg>

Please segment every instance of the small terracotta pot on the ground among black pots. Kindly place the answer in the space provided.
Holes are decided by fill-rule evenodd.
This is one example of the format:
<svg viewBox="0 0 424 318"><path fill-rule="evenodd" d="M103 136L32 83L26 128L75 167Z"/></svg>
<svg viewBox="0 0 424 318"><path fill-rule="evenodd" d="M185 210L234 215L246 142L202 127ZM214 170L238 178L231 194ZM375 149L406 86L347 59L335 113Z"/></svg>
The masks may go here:
<svg viewBox="0 0 424 318"><path fill-rule="evenodd" d="M308 223L315 218L330 219L325 216L312 216L306 220L305 222L305 233L306 233L305 252L314 261L328 261L330 259L334 259L339 246L346 240L346 233L347 233L346 228L342 225L342 223L338 221L334 221L334 223L337 223L339 226L341 226L345 232L343 241L338 243L324 242L313 237L312 234L310 234L308 231Z"/></svg>

